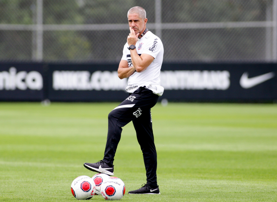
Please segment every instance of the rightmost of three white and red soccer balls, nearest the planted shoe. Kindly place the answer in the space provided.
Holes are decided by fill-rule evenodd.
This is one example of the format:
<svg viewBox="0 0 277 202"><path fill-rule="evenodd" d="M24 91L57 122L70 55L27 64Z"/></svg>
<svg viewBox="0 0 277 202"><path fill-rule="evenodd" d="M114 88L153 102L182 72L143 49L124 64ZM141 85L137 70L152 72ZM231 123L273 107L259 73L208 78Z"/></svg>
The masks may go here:
<svg viewBox="0 0 277 202"><path fill-rule="evenodd" d="M125 184L117 177L109 177L103 181L100 190L106 200L120 200L125 194Z"/></svg>

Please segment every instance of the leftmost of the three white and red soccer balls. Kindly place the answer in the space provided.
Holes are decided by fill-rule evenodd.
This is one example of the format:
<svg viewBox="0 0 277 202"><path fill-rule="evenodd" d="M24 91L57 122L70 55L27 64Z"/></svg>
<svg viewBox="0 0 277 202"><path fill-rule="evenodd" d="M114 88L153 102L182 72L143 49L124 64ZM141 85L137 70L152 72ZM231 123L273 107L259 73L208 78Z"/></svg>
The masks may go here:
<svg viewBox="0 0 277 202"><path fill-rule="evenodd" d="M75 178L71 184L71 192L77 199L90 199L95 191L94 181L86 175Z"/></svg>

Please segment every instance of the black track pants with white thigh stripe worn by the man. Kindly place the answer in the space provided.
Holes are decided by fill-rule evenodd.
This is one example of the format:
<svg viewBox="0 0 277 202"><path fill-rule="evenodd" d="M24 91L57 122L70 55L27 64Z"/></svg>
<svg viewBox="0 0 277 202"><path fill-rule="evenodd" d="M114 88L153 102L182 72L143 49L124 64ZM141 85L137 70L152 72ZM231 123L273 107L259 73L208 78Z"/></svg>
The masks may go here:
<svg viewBox="0 0 277 202"><path fill-rule="evenodd" d="M113 164L122 127L132 121L143 154L147 184L152 186L157 186L157 152L150 109L155 106L158 97L151 90L140 87L109 113L107 144L103 158L106 163Z"/></svg>

